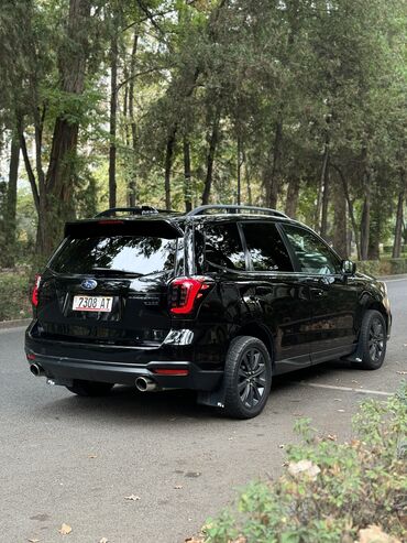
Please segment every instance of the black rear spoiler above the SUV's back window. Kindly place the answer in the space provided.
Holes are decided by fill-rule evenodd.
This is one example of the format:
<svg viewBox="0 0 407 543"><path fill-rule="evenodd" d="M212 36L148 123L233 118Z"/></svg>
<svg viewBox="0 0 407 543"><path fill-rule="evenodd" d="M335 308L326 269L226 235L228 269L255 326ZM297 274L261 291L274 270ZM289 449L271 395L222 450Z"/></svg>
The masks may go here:
<svg viewBox="0 0 407 543"><path fill-rule="evenodd" d="M102 219L77 220L66 222L65 237L95 238L99 236L141 236L164 239L180 238L184 236L182 228L169 219L127 220Z"/></svg>

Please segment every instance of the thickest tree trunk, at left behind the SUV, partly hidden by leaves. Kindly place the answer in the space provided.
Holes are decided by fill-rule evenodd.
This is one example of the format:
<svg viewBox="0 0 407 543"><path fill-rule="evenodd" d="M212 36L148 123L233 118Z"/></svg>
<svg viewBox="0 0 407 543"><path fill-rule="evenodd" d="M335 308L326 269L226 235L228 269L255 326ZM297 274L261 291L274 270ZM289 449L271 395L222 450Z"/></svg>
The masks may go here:
<svg viewBox="0 0 407 543"><path fill-rule="evenodd" d="M64 95L81 95L88 58L87 28L90 0L70 0L66 43L58 52L61 90ZM55 121L50 164L43 187L40 186L38 252L47 257L63 234L66 220L75 216L73 202L75 159L79 123L67 111Z"/></svg>

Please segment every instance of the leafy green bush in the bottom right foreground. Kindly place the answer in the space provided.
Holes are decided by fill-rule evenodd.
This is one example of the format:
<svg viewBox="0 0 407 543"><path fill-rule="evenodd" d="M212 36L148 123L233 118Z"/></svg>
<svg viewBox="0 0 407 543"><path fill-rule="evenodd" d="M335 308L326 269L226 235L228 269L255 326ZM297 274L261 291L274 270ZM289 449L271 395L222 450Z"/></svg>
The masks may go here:
<svg viewBox="0 0 407 543"><path fill-rule="evenodd" d="M387 402L361 404L353 425L354 438L339 444L298 421L302 442L288 448L286 473L250 484L237 508L209 519L191 541L352 543L370 530L377 539L363 541L407 541L407 385ZM381 529L360 532L372 524ZM378 539L382 530L395 539Z"/></svg>

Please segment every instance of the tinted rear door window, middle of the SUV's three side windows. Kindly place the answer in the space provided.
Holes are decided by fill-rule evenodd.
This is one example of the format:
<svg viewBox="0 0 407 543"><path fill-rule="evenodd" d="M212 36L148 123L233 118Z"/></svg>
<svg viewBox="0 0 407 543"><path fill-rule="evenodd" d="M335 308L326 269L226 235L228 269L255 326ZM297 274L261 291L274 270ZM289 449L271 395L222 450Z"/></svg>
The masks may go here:
<svg viewBox="0 0 407 543"><path fill-rule="evenodd" d="M293 271L287 249L272 222L242 224L255 271Z"/></svg>

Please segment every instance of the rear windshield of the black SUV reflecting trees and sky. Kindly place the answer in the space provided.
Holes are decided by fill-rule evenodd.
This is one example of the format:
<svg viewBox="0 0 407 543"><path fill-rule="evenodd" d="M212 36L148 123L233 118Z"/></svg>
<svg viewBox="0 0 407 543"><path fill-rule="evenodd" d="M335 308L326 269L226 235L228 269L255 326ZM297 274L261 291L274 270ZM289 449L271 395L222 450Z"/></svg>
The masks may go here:
<svg viewBox="0 0 407 543"><path fill-rule="evenodd" d="M131 236L67 238L50 267L57 273L116 270L146 275L174 269L176 241Z"/></svg>

